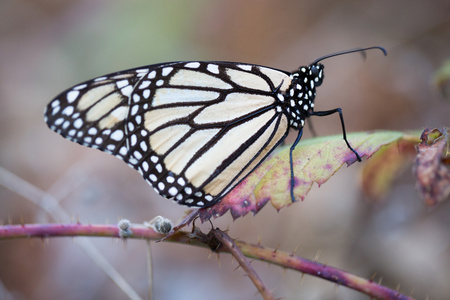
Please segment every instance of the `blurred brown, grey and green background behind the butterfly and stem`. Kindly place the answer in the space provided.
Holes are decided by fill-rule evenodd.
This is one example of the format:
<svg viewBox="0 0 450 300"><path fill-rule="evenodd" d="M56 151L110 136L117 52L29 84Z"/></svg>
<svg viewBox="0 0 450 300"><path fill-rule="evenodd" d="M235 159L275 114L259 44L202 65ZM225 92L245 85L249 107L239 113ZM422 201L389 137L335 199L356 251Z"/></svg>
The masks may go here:
<svg viewBox="0 0 450 300"><path fill-rule="evenodd" d="M123 162L64 140L43 121L44 107L61 91L122 69L225 60L292 71L325 54L383 46L387 57L371 51L365 60L358 54L326 60L316 110L341 107L350 132L448 126L450 103L433 76L450 57L449 15L447 0L2 0L0 167L51 193L68 218L55 220L12 192L2 176L0 222L142 223L156 215L176 222L183 216L185 208L159 198ZM337 116L313 119L321 136L340 133L338 122ZM305 258L374 276L418 299L446 299L448 201L425 207L410 168L383 201L369 201L360 189L363 165L343 168L280 212L267 205L256 216L233 221L226 214L214 225L247 242L297 248ZM29 190L25 182L15 187L21 193ZM0 241L0 298L124 299L76 240ZM148 297L145 242L89 241ZM260 299L229 255L217 259L205 249L167 243L152 250L156 299ZM368 298L276 266L253 266L284 299Z"/></svg>

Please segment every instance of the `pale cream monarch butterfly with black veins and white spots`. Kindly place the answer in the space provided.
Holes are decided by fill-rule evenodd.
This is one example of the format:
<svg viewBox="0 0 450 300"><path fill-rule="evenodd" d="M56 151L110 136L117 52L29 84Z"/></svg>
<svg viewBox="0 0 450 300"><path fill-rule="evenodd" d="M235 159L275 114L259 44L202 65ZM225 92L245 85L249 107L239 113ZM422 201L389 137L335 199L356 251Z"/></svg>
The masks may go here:
<svg viewBox="0 0 450 300"><path fill-rule="evenodd" d="M170 62L129 69L76 85L52 100L47 125L63 137L124 160L162 196L178 204L219 202L288 135L292 150L314 111L320 61L381 47L323 56L289 73L236 62Z"/></svg>

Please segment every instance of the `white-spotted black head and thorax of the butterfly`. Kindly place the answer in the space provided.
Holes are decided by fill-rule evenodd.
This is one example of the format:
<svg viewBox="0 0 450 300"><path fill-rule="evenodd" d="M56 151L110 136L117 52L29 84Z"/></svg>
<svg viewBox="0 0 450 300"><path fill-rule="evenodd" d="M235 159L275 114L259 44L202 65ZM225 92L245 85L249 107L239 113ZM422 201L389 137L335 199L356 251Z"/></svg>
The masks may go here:
<svg viewBox="0 0 450 300"><path fill-rule="evenodd" d="M283 110L289 118L289 125L294 129L300 129L314 110L316 87L323 81L323 65L300 67L290 77L292 83L285 95Z"/></svg>

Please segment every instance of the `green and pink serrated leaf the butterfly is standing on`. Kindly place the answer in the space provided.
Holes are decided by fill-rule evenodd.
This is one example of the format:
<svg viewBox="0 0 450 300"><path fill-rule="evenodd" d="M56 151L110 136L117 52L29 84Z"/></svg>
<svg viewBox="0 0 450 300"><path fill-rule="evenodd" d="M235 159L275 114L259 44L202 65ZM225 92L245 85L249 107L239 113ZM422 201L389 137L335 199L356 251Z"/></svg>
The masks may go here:
<svg viewBox="0 0 450 300"><path fill-rule="evenodd" d="M349 143L361 157L371 157L380 147L405 136L402 132L379 131L353 133ZM258 168L230 191L221 202L199 210L202 220L219 217L228 210L234 219L249 212L256 214L267 202L277 210L292 204L290 197L289 148L277 148ZM318 137L301 141L293 152L295 199L303 200L314 182L325 183L343 164L356 161L342 135Z"/></svg>

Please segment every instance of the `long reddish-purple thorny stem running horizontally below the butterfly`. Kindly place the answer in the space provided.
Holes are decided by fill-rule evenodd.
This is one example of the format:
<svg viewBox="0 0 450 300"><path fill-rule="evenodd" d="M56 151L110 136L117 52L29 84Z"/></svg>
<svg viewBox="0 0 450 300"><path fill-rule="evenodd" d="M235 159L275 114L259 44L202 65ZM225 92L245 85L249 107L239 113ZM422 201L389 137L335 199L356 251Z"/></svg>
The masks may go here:
<svg viewBox="0 0 450 300"><path fill-rule="evenodd" d="M156 233L153 229L143 225L133 224L130 227L131 236L134 239L160 240L163 235ZM215 234L215 233L214 233ZM29 237L57 237L57 236L97 236L97 237L120 237L117 225L83 225L83 224L36 224L36 225L3 225L0 226L0 240L12 238ZM177 231L168 237L167 242L190 244L200 247L208 247L208 244L198 238L193 238L190 232ZM224 246L228 242L222 242ZM231 245L231 244L230 244ZM319 277L337 284L349 287L356 291L367 294L378 299L401 299L413 300L396 290L381 286L356 275L344 272L315 261L301 258L294 254L269 249L261 245L252 245L242 241L234 241L236 252L228 247L220 247L217 252L237 253L242 252L246 257L270 262L284 268L297 270L315 277ZM239 249L239 250L237 250ZM235 255L236 259L237 256ZM270 298L268 298L270 299Z"/></svg>

